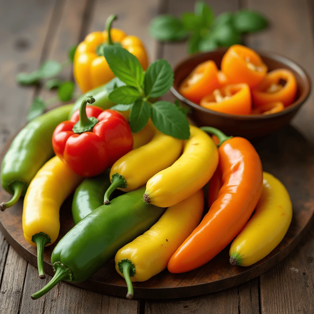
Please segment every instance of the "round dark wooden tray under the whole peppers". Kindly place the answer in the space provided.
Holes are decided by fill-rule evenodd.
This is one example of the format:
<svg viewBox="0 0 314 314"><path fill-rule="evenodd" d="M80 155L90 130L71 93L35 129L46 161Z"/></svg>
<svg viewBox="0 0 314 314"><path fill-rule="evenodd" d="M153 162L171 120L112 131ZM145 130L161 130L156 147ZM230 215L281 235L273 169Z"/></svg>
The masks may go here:
<svg viewBox="0 0 314 314"><path fill-rule="evenodd" d="M260 154L264 171L268 171L281 180L287 187L293 203L293 219L283 241L273 252L250 267L233 267L229 264L229 247L220 252L206 265L182 274L171 274L167 270L157 274L146 282L134 283L136 298L181 298L208 294L230 288L251 280L286 257L300 241L314 212L314 154L310 145L291 126L277 133L253 142ZM4 148L2 161L10 143ZM0 200L9 199L8 193L0 191ZM28 244L22 230L22 207L20 200L14 207L0 213L0 229L15 250L28 262L35 265L36 248ZM60 210L61 229L58 240L70 230L74 223L71 216L71 198L66 200ZM55 244L57 243L55 242ZM50 263L54 245L45 249L45 271L53 275ZM40 279L38 279L40 280ZM124 297L126 284L116 272L114 261L104 265L90 279L76 284L79 287Z"/></svg>

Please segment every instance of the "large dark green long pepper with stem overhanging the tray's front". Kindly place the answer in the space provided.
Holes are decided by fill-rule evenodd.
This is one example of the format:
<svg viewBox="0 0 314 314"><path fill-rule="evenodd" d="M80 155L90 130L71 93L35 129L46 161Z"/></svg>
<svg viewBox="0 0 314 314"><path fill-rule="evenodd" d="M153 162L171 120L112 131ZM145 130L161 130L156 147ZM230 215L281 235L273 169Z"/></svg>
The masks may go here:
<svg viewBox="0 0 314 314"><path fill-rule="evenodd" d="M56 245L51 281L32 295L38 299L63 279L80 282L107 263L125 244L148 230L165 208L143 202L144 189L114 198L83 218Z"/></svg>

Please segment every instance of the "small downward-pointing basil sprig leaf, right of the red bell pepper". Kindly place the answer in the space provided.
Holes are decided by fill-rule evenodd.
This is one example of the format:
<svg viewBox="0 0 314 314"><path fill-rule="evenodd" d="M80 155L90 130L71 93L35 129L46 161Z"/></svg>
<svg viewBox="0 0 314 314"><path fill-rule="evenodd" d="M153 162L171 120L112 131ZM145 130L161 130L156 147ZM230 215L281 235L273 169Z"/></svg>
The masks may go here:
<svg viewBox="0 0 314 314"><path fill-rule="evenodd" d="M133 133L141 131L145 127L149 117L151 108L146 101L137 100L130 112L130 127Z"/></svg>

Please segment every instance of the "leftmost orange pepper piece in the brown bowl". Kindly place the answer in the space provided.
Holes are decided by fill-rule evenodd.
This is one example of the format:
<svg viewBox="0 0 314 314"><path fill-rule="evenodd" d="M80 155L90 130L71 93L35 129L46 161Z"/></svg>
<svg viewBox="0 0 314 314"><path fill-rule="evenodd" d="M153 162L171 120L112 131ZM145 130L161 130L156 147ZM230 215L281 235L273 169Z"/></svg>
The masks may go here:
<svg viewBox="0 0 314 314"><path fill-rule="evenodd" d="M218 68L214 61L199 64L180 85L180 94L199 104L204 96L219 88L217 73Z"/></svg>

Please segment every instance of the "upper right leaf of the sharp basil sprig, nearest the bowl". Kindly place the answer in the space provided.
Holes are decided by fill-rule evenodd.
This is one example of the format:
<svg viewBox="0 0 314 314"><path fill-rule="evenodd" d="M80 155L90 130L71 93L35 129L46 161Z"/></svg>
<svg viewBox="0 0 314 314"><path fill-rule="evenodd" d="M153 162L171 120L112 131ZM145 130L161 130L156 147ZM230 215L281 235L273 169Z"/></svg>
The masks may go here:
<svg viewBox="0 0 314 314"><path fill-rule="evenodd" d="M160 59L152 63L144 77L144 92L147 98L164 95L173 84L173 71L169 62Z"/></svg>

